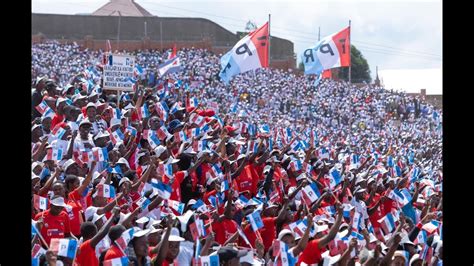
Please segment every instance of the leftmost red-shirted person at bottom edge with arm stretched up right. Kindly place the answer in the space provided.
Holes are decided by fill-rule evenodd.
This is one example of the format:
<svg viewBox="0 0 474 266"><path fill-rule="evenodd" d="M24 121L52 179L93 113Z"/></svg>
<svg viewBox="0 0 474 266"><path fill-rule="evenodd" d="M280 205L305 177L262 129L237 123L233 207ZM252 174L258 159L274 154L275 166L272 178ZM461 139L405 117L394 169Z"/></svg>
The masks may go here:
<svg viewBox="0 0 474 266"><path fill-rule="evenodd" d="M112 217L107 220L99 232L97 232L97 227L92 222L85 222L81 224L81 235L84 242L79 246L79 250L77 251L75 262L78 266L99 265L99 259L95 254L95 247L109 232L113 220L120 214L120 208L115 207L112 213Z"/></svg>

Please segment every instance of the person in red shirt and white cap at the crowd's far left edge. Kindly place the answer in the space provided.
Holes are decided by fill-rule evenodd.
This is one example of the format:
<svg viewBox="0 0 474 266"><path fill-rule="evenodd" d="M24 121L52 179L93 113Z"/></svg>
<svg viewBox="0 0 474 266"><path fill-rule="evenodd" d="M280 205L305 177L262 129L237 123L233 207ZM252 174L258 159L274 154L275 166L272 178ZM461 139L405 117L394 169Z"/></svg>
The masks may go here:
<svg viewBox="0 0 474 266"><path fill-rule="evenodd" d="M54 196L50 209L35 216L34 220L39 223L37 226L40 227L40 234L48 245L53 238L65 238L71 234L69 217L63 211L66 206L63 197Z"/></svg>

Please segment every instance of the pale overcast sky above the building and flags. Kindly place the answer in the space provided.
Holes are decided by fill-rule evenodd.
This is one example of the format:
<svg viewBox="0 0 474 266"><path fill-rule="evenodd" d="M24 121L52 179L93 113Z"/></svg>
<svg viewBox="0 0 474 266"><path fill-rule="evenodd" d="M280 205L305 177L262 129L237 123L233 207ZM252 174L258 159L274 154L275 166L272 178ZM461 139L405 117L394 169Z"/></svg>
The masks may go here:
<svg viewBox="0 0 474 266"><path fill-rule="evenodd" d="M32 12L92 13L107 2L108 0L33 0ZM321 38L323 38L346 27L350 19L352 44L361 50L367 59L372 77L375 77L377 65L379 71L440 69L442 66L441 1L136 0L135 2L157 16L203 17L231 32L243 31L248 20L260 26L268 20L268 14L271 14L271 34L292 41L298 61L302 51L316 43L318 27L321 27Z"/></svg>

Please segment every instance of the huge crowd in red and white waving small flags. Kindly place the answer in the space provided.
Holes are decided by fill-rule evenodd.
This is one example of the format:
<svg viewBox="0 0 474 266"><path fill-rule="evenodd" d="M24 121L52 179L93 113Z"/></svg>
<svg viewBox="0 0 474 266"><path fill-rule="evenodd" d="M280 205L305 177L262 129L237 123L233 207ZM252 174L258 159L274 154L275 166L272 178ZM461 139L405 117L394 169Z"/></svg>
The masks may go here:
<svg viewBox="0 0 474 266"><path fill-rule="evenodd" d="M442 265L442 110L220 55L32 46L36 265Z"/></svg>

